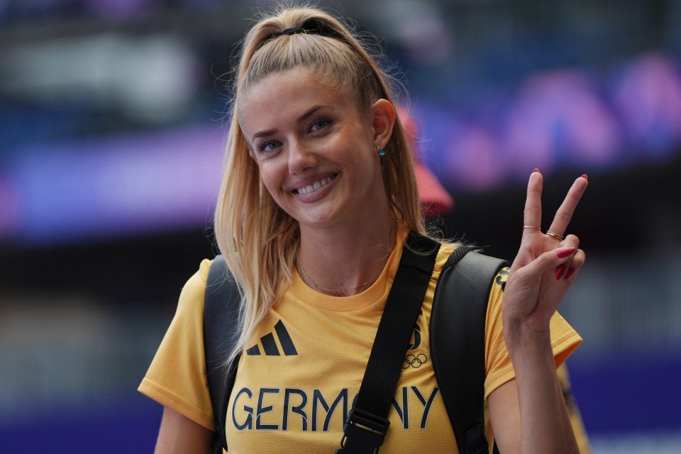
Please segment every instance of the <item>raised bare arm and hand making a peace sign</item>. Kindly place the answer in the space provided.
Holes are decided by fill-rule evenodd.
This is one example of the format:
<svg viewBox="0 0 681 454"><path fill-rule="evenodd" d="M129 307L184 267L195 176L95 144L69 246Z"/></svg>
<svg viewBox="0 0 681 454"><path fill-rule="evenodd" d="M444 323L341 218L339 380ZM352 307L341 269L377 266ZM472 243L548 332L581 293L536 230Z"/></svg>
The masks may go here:
<svg viewBox="0 0 681 454"><path fill-rule="evenodd" d="M549 322L584 264L579 239L546 235L541 226L542 175L528 182L521 247L502 302L504 341L516 378L489 395L500 452L579 453L555 372ZM578 178L558 209L550 231L562 236L587 187Z"/></svg>

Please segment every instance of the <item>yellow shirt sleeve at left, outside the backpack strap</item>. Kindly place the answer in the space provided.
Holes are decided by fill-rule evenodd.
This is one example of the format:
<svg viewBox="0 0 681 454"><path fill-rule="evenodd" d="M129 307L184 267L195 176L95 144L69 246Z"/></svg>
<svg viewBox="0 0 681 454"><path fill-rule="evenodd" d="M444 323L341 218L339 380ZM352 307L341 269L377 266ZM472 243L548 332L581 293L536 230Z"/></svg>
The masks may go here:
<svg viewBox="0 0 681 454"><path fill-rule="evenodd" d="M182 288L177 311L138 391L214 430L204 356L204 295L211 260Z"/></svg>

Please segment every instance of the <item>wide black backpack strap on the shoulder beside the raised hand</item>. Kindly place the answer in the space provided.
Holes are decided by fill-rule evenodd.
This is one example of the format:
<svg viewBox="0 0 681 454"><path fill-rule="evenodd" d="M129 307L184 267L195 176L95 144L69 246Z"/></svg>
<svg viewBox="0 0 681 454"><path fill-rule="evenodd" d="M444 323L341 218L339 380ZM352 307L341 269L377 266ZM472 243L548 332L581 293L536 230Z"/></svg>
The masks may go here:
<svg viewBox="0 0 681 454"><path fill-rule="evenodd" d="M440 274L431 309L431 357L459 452L487 454L485 317L492 281L509 264L469 250L455 249Z"/></svg>

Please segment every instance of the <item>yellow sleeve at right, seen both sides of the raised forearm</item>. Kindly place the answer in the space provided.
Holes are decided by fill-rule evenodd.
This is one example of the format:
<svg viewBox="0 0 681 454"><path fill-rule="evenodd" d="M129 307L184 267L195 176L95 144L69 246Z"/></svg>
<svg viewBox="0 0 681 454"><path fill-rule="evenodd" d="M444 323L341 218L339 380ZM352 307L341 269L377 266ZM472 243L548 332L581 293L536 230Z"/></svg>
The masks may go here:
<svg viewBox="0 0 681 454"><path fill-rule="evenodd" d="M516 377L502 326L502 299L508 275L508 268L500 271L489 292L485 321L485 399L494 389ZM553 358L555 367L558 367L582 343L582 338L558 312L551 318L550 331Z"/></svg>

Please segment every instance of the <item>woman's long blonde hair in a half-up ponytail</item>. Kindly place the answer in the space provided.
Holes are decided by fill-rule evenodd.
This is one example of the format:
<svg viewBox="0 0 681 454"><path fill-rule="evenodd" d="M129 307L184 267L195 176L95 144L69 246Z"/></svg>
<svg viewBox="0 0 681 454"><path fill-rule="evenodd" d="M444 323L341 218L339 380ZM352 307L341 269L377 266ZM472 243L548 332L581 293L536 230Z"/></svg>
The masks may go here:
<svg viewBox="0 0 681 454"><path fill-rule="evenodd" d="M304 31L282 34L292 28ZM226 165L215 212L216 243L242 295L242 329L228 361L243 350L291 284L300 235L297 221L277 206L260 179L240 128L239 100L268 75L294 68L328 76L364 109L381 98L394 104L392 78L348 26L319 9L278 9L260 18L246 34L234 80ZM425 233L409 146L396 117L382 157L383 182L399 221Z"/></svg>

